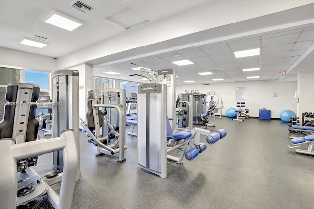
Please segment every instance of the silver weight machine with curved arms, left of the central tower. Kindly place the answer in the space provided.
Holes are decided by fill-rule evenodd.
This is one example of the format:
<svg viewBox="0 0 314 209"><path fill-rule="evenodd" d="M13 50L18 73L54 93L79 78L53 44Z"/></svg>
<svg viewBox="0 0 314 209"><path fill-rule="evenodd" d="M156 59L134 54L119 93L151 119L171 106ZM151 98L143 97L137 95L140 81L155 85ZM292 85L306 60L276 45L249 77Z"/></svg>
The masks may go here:
<svg viewBox="0 0 314 209"><path fill-rule="evenodd" d="M118 157L118 163L126 161L124 155L124 150L127 149L125 146L125 95L123 89L103 90L102 104L98 104L95 99L87 99L86 122L79 118L80 125L89 138L88 141L97 147L96 156L110 154ZM110 110L107 111L107 109ZM101 134L101 128L103 134Z"/></svg>

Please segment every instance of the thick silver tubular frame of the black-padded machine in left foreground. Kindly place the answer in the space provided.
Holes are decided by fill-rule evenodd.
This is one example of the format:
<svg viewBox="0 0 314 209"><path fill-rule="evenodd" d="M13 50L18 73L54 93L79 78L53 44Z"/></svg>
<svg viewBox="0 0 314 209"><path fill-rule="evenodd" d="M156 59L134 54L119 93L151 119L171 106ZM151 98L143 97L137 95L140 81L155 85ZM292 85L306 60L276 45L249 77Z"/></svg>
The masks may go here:
<svg viewBox="0 0 314 209"><path fill-rule="evenodd" d="M16 102L11 102L17 105L12 137L0 139L0 208L13 209L17 207L17 204L24 204L47 194L54 208L70 209L75 186L73 177L77 174L79 162L75 134L73 130L63 130L60 136L52 139L26 141L29 131L27 130L28 121L35 120L35 118L29 118L30 106L36 106L36 102L31 102L32 95L33 85L25 83L18 85ZM7 103L5 105L14 104ZM20 168L26 171L29 178L18 183L18 170L20 169L17 169L17 162L25 162L25 159L57 150L61 150L63 154L64 165L60 195L57 195L50 184L27 163ZM35 189L34 196L27 198L23 196L21 200L20 197L17 197L18 189L29 185L43 186L43 192L41 193L41 189L39 189L38 193Z"/></svg>

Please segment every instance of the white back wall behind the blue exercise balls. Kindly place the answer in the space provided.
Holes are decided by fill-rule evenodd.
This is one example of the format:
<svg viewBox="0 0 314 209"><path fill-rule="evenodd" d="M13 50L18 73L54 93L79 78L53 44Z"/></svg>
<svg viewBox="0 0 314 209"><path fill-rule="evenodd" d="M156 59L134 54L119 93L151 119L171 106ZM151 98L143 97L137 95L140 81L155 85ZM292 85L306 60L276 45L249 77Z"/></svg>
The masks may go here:
<svg viewBox="0 0 314 209"><path fill-rule="evenodd" d="M278 82L278 81L249 81L249 82L229 82L213 83L210 85L177 85L177 94L184 93L185 90L198 90L199 93L217 92L224 105L223 115L229 107L236 106L236 87L246 87L245 105L249 108L249 115L259 116L259 109L266 108L271 110L271 118L279 118L283 110L292 110L296 113L296 102L294 92L297 91L297 82ZM277 93L277 97L272 94Z"/></svg>

